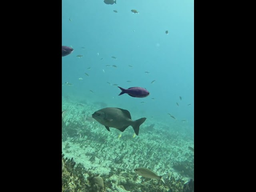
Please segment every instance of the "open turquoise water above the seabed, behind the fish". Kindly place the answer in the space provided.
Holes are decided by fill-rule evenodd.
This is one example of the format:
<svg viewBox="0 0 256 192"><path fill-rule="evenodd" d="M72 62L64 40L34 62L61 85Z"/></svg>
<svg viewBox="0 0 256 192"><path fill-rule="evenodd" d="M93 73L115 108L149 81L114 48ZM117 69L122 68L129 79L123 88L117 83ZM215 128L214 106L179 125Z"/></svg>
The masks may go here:
<svg viewBox="0 0 256 192"><path fill-rule="evenodd" d="M62 86L64 98L123 108L134 120L146 117L147 125L185 127L193 137L193 0L117 0L114 5L103 0L62 0L62 45L74 48L72 54L62 57L62 83L73 84ZM143 87L150 96L118 96L121 91L113 84ZM102 130L108 133L104 126Z"/></svg>

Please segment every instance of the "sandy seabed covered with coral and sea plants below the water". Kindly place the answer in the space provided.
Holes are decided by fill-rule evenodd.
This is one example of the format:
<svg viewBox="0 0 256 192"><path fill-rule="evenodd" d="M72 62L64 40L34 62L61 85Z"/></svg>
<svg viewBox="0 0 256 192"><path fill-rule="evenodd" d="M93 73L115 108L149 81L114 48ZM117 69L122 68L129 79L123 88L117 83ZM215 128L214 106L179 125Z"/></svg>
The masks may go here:
<svg viewBox="0 0 256 192"><path fill-rule="evenodd" d="M190 181L194 178L194 152L188 150L193 138L186 130L148 120L139 136L133 136L132 128L108 132L97 122L85 121L84 116L97 109L71 99L63 104L67 113L62 120L62 192L194 191L194 180ZM122 137L118 139L119 134ZM168 174L165 184L138 176L133 171L136 167ZM97 183L97 178L102 178L104 185Z"/></svg>

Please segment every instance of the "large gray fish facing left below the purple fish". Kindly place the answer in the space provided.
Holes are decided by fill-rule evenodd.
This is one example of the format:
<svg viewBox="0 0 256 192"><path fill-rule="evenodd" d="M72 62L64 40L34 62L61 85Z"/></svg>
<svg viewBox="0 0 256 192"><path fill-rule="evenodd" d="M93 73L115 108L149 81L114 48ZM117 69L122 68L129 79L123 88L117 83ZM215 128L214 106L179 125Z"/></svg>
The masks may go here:
<svg viewBox="0 0 256 192"><path fill-rule="evenodd" d="M128 110L115 107L100 109L92 114L92 118L104 125L108 131L112 127L124 132L128 126L132 126L136 135L139 134L140 125L146 120L144 117L133 121Z"/></svg>

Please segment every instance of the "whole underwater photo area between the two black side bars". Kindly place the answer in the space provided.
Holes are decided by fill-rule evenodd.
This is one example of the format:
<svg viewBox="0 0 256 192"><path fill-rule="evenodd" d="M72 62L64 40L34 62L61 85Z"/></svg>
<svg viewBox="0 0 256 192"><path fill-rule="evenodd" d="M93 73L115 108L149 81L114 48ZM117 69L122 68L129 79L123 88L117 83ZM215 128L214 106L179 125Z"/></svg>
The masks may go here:
<svg viewBox="0 0 256 192"><path fill-rule="evenodd" d="M194 192L194 0L62 0L62 192Z"/></svg>

